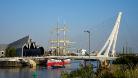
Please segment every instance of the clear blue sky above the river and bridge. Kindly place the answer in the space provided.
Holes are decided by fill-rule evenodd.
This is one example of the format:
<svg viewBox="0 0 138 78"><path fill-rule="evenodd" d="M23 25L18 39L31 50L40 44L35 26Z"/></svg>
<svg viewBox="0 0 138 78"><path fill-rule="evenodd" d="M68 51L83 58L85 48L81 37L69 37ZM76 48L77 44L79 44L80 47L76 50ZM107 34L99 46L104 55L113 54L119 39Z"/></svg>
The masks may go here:
<svg viewBox="0 0 138 78"><path fill-rule="evenodd" d="M107 40L118 12L122 12L117 51L128 46L138 52L138 0L0 0L0 44L8 44L30 35L39 45L48 41L57 22L66 24L72 49L100 50Z"/></svg>

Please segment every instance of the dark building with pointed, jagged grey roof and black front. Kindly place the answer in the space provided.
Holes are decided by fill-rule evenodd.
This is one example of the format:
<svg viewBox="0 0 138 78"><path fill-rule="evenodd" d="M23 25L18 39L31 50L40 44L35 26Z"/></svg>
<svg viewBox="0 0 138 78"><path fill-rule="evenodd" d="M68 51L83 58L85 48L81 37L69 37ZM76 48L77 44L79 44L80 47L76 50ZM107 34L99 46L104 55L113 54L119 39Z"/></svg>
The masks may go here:
<svg viewBox="0 0 138 78"><path fill-rule="evenodd" d="M21 56L41 56L44 54L44 48L37 46L29 36L25 36L15 42L12 42L8 47L16 49L16 55Z"/></svg>

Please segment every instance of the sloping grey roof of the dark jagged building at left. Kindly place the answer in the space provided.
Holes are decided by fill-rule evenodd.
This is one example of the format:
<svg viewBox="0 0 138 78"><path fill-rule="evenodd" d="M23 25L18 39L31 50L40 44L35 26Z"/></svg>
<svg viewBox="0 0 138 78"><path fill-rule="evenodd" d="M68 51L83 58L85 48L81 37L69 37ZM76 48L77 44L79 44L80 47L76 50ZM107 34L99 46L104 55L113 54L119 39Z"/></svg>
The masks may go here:
<svg viewBox="0 0 138 78"><path fill-rule="evenodd" d="M8 47L22 48L24 44L29 43L29 36L25 36L17 41L14 41L8 45Z"/></svg>

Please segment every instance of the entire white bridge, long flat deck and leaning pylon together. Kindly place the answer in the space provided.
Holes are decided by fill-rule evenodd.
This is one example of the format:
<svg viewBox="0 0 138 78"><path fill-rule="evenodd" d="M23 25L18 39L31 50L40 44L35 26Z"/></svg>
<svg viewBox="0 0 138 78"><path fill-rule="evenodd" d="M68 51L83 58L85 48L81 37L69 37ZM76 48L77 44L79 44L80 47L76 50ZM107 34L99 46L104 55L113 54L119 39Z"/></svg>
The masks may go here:
<svg viewBox="0 0 138 78"><path fill-rule="evenodd" d="M115 60L117 57L115 57L115 47L116 47L116 41L117 41L117 35L119 31L120 21L121 21L122 13L119 12L116 23L113 27L113 30L105 42L105 45L102 47L102 49L95 55L95 56L42 56L42 57L13 57L13 58L20 58L20 59L48 59L48 58L56 58L56 59L74 59L74 60L100 60L101 62L106 60ZM109 55L109 52L111 51L111 56ZM0 61L8 61L11 58L0 58Z"/></svg>

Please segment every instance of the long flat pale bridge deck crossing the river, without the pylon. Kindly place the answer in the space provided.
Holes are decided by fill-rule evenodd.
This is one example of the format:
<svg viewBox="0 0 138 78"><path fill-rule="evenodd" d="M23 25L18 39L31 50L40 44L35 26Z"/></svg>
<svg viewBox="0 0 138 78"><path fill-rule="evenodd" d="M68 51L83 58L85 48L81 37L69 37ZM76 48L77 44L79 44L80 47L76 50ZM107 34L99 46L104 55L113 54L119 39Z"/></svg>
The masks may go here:
<svg viewBox="0 0 138 78"><path fill-rule="evenodd" d="M10 59L48 59L48 58L56 58L56 59L73 59L73 60L115 60L118 57L104 57L104 56L41 56L41 57L5 57L0 58L0 61L9 61Z"/></svg>

